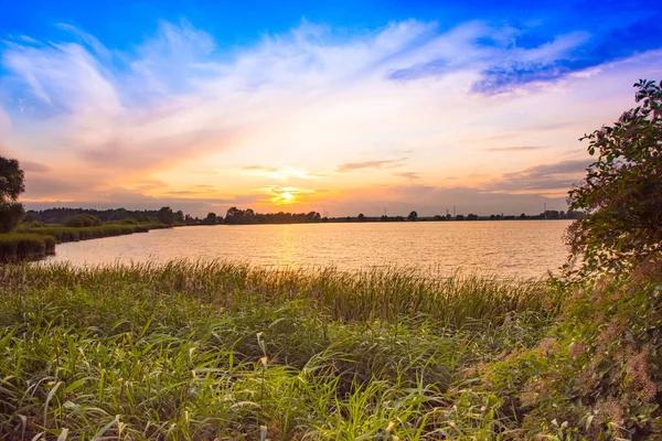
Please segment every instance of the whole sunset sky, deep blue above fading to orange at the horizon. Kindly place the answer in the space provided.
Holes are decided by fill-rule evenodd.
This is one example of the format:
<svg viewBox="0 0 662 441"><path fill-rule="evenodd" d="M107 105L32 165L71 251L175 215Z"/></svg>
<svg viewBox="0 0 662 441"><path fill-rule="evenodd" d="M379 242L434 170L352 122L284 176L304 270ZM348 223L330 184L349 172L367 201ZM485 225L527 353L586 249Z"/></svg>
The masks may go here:
<svg viewBox="0 0 662 441"><path fill-rule="evenodd" d="M28 208L538 214L662 79L643 1L0 0Z"/></svg>

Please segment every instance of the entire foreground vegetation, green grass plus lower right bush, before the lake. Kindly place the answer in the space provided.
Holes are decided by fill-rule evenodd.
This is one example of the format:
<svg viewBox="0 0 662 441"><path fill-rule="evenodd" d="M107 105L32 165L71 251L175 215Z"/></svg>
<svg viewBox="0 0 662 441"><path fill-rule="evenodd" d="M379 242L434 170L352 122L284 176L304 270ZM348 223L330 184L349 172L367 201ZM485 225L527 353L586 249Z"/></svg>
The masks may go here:
<svg viewBox="0 0 662 441"><path fill-rule="evenodd" d="M661 282L4 266L0 433L655 439Z"/></svg>

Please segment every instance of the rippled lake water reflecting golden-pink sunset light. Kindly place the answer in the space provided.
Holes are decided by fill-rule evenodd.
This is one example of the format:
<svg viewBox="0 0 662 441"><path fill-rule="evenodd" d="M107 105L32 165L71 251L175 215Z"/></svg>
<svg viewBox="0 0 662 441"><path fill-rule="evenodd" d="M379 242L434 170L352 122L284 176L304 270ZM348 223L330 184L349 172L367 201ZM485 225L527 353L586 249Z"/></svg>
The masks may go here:
<svg viewBox="0 0 662 441"><path fill-rule="evenodd" d="M405 267L538 278L567 257L570 220L216 225L57 245L47 261L225 259L256 266Z"/></svg>

